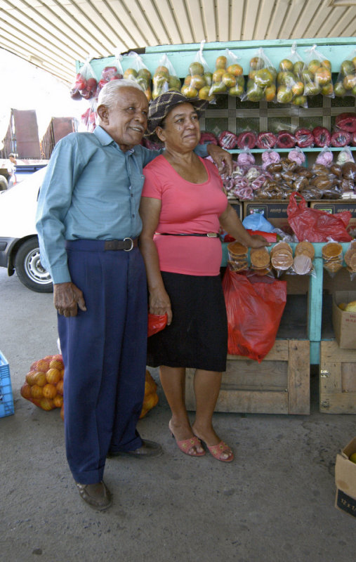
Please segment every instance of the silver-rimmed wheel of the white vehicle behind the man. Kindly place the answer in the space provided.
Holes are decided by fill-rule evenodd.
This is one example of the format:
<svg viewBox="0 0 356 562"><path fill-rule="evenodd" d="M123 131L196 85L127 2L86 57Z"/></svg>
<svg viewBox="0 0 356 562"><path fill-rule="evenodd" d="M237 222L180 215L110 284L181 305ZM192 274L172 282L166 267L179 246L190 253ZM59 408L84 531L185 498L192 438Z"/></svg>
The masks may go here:
<svg viewBox="0 0 356 562"><path fill-rule="evenodd" d="M21 244L15 256L15 270L27 289L37 293L53 292L51 275L41 264L37 237Z"/></svg>

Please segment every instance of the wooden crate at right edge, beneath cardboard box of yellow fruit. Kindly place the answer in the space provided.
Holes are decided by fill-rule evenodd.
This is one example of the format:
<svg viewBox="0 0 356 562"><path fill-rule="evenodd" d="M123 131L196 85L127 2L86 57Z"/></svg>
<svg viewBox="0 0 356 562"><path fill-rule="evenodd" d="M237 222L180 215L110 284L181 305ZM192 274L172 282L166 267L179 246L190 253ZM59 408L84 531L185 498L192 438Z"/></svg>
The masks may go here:
<svg viewBox="0 0 356 562"><path fill-rule="evenodd" d="M341 349L335 340L320 342L319 410L356 414L356 349Z"/></svg>

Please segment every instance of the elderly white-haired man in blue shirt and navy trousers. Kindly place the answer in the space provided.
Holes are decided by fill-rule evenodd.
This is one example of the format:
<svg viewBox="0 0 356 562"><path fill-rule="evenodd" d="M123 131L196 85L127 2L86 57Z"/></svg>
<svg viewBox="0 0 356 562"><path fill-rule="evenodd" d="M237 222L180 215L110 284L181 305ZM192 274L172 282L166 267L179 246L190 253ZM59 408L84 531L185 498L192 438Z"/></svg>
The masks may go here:
<svg viewBox="0 0 356 562"><path fill-rule="evenodd" d="M65 443L79 495L106 509L107 456L161 454L136 424L145 392L147 285L137 237L143 166L159 151L140 145L148 103L135 82L106 84L93 133L55 146L41 186L37 231L65 364ZM231 166L220 148L201 146Z"/></svg>

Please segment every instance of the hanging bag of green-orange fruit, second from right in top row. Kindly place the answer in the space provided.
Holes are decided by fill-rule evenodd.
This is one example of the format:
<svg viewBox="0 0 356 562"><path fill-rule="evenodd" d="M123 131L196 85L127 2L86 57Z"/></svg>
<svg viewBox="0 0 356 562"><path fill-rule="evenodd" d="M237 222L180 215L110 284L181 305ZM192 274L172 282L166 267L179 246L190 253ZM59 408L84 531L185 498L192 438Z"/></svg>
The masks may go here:
<svg viewBox="0 0 356 562"><path fill-rule="evenodd" d="M331 79L331 62L317 50L317 45L305 49L307 59L303 71L304 96L317 96L321 93L327 98L334 98L334 86Z"/></svg>

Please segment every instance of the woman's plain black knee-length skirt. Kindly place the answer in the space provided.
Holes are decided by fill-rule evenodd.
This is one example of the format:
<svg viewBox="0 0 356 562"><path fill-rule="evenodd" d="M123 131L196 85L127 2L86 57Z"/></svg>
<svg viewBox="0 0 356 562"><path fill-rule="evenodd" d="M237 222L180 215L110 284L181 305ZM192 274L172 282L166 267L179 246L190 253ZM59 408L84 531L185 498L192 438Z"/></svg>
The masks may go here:
<svg viewBox="0 0 356 562"><path fill-rule="evenodd" d="M220 275L162 272L173 320L148 338L147 365L225 371L228 321Z"/></svg>

